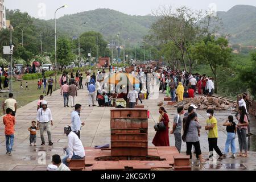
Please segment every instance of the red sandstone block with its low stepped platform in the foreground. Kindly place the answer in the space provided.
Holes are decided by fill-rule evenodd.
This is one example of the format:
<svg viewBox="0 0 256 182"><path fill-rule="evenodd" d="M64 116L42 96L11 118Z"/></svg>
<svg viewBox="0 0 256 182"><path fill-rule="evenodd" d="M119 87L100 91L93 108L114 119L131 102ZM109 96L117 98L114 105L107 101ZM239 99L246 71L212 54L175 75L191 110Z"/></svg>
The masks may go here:
<svg viewBox="0 0 256 182"><path fill-rule="evenodd" d="M72 160L73 170L191 170L189 156L176 147L148 147L146 109L111 110L111 149L85 147L85 165ZM80 167L79 167L80 165Z"/></svg>

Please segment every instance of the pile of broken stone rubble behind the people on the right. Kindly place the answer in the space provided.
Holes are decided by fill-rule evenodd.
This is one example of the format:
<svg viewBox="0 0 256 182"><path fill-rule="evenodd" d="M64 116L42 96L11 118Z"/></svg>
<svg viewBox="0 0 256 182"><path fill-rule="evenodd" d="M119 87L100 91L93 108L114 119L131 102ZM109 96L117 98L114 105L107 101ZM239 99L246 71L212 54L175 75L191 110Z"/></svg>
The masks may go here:
<svg viewBox="0 0 256 182"><path fill-rule="evenodd" d="M234 102L229 102L222 98L214 97L195 97L195 98L186 98L184 101L177 102L175 107L184 106L184 109L187 110L189 106L196 105L198 109L214 109L214 110L233 110L237 104Z"/></svg>

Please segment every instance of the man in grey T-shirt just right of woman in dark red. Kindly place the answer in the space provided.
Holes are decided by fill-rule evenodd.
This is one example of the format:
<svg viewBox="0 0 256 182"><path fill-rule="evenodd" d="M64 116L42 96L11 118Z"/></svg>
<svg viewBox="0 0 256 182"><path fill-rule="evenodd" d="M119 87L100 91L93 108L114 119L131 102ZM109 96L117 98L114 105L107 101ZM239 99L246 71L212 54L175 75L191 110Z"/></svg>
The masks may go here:
<svg viewBox="0 0 256 182"><path fill-rule="evenodd" d="M182 118L181 114L184 114L184 107L177 107L177 114L174 117L174 125L172 125L171 134L174 134L175 147L180 152L181 150L181 129L182 129Z"/></svg>

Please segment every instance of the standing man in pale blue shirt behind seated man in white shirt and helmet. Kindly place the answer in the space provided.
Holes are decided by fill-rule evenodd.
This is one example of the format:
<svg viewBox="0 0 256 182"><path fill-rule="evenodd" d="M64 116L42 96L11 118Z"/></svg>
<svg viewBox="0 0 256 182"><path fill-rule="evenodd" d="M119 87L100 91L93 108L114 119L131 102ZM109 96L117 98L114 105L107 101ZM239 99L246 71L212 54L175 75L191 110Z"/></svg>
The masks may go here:
<svg viewBox="0 0 256 182"><path fill-rule="evenodd" d="M75 110L71 113L71 129L73 132L75 132L77 134L77 136L80 139L80 130L81 130L81 125L84 126L85 123L81 122L80 119L80 112L81 112L81 105L80 104L76 104L75 105Z"/></svg>

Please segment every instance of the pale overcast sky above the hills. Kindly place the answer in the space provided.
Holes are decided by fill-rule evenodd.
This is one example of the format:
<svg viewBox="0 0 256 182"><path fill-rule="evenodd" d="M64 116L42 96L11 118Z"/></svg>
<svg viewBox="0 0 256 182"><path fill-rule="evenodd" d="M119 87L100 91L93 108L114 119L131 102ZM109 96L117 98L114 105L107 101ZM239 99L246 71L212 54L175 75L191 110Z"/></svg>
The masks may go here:
<svg viewBox="0 0 256 182"><path fill-rule="evenodd" d="M54 18L55 10L67 4L68 7L57 12L57 18L65 14L75 14L98 8L108 8L130 15L147 15L159 6L188 6L191 9L228 11L234 5L253 5L255 0L5 0L7 9L19 9L41 19Z"/></svg>

